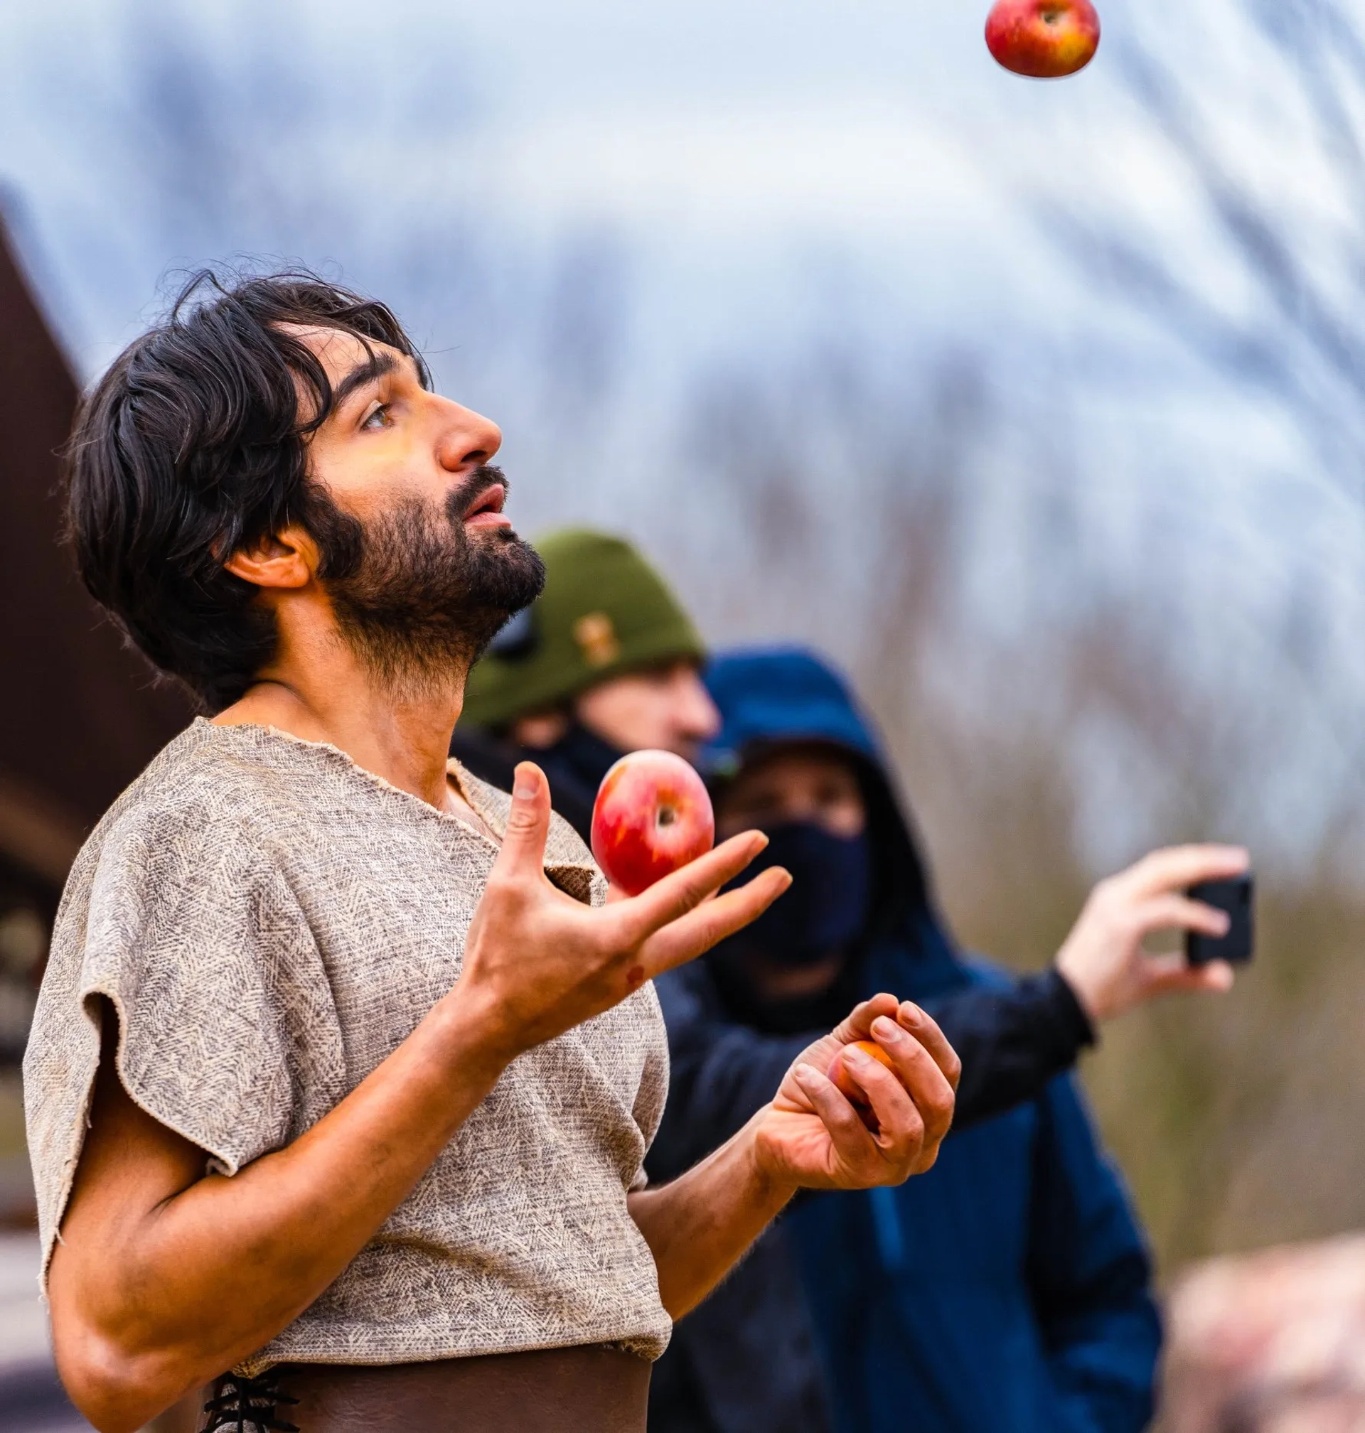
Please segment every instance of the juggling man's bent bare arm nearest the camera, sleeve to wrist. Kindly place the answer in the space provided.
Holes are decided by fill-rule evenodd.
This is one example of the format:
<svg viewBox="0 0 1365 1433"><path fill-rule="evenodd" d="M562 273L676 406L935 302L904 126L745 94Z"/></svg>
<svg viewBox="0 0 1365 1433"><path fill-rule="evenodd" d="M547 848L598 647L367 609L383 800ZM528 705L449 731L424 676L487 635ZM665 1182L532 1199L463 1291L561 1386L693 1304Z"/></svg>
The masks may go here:
<svg viewBox="0 0 1365 1433"><path fill-rule="evenodd" d="M506 1065L456 987L313 1129L228 1179L204 1178L202 1151L110 1083L110 1056L106 1043L50 1277L59 1367L87 1384L72 1391L109 1433L141 1427L311 1304Z"/></svg>

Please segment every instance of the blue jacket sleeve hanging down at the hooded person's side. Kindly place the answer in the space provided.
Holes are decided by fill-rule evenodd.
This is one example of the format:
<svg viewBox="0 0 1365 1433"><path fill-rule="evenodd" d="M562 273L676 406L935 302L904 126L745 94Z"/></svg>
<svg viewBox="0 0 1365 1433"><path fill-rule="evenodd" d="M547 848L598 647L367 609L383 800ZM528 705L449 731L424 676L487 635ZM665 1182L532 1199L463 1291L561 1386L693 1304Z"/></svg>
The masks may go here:
<svg viewBox="0 0 1365 1433"><path fill-rule="evenodd" d="M1147 1248L1072 1080L1038 1112L1028 1281L1065 1430L1140 1433L1161 1346Z"/></svg>

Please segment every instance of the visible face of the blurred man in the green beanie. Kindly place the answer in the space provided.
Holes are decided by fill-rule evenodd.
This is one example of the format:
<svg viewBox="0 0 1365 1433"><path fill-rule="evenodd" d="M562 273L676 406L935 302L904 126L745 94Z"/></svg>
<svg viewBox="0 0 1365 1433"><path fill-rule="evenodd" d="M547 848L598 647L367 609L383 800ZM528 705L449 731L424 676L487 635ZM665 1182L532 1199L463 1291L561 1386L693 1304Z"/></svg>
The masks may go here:
<svg viewBox="0 0 1365 1433"><path fill-rule="evenodd" d="M617 751L671 751L695 761L720 731L720 712L691 662L628 672L589 688L574 704L594 735Z"/></svg>

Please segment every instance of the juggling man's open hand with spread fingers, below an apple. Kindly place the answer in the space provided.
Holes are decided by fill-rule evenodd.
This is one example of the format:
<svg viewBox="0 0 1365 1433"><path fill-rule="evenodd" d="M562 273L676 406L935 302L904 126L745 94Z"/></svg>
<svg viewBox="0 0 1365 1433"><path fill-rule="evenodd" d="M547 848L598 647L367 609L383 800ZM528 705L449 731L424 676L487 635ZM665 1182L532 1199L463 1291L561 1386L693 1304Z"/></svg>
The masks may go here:
<svg viewBox="0 0 1365 1433"><path fill-rule="evenodd" d="M760 916L791 884L780 867L711 897L767 845L758 831L665 876L639 896L592 909L545 874L549 785L516 768L502 850L465 941L452 997L475 1002L489 1046L512 1059L609 1010Z"/></svg>

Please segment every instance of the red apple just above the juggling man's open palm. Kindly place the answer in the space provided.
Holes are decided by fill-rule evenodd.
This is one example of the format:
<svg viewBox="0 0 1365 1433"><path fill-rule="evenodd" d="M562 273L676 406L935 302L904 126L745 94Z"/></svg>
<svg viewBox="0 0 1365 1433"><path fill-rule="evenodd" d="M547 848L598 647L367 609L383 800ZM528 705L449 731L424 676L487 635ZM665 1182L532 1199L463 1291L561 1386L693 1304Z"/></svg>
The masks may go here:
<svg viewBox="0 0 1365 1433"><path fill-rule="evenodd" d="M671 751L632 751L602 778L592 854L612 886L638 896L715 844L701 777Z"/></svg>

